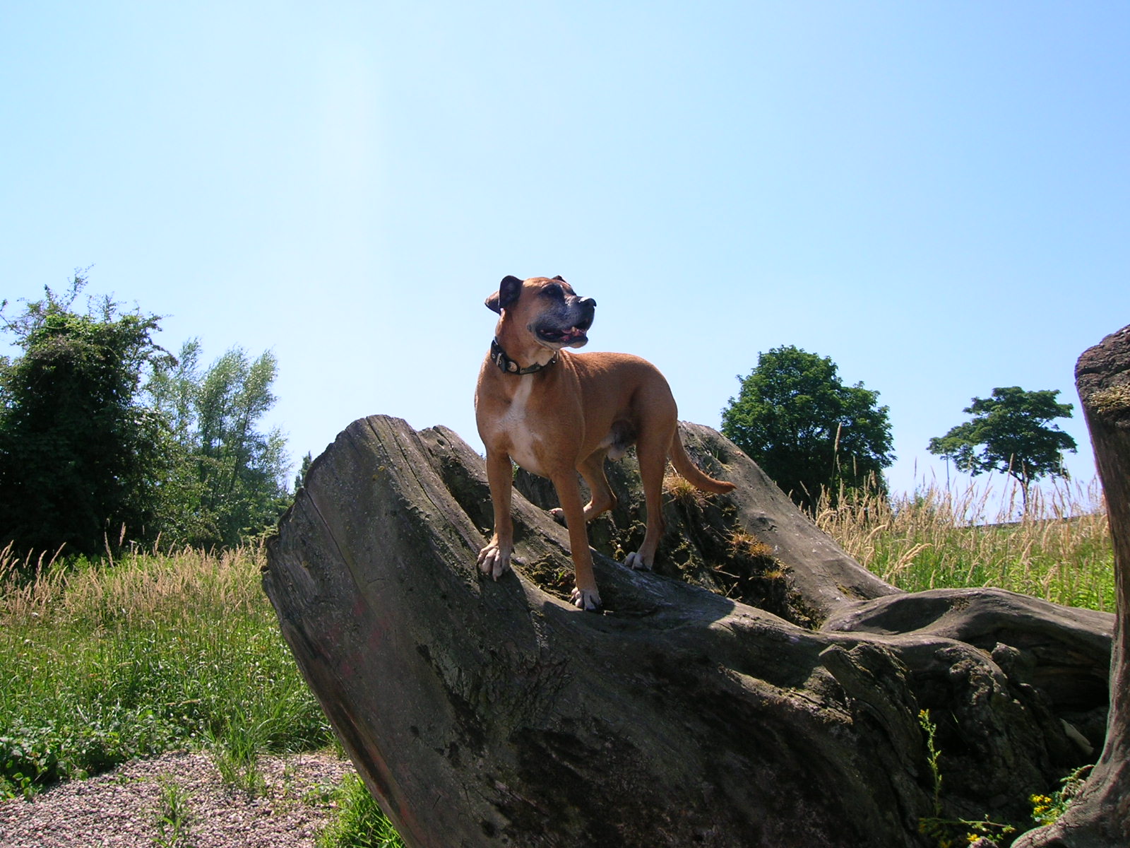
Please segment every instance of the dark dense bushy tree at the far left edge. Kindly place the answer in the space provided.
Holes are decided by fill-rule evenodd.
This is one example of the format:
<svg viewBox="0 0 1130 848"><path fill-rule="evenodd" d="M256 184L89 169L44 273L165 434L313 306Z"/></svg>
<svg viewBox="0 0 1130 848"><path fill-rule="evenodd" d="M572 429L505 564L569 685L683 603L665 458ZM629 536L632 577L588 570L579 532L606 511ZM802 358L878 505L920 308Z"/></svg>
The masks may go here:
<svg viewBox="0 0 1130 848"><path fill-rule="evenodd" d="M11 319L0 304L23 351L0 357L0 545L93 553L123 526L131 538L157 533L166 458L140 381L168 360L153 341L159 318L108 297L76 311L86 283L76 271L66 294L47 287Z"/></svg>

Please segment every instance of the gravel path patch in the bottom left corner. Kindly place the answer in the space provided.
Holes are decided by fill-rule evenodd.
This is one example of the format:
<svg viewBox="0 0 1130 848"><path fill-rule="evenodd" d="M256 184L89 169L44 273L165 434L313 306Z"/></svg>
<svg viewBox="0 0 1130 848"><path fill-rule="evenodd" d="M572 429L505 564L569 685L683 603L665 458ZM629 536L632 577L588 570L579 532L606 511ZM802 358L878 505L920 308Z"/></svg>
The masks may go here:
<svg viewBox="0 0 1130 848"><path fill-rule="evenodd" d="M252 795L225 784L208 754L139 760L31 802L0 802L0 846L314 848L330 814L329 791L351 768L330 754L263 758L267 790ZM186 832L176 842L159 838L162 785L169 781L188 811Z"/></svg>

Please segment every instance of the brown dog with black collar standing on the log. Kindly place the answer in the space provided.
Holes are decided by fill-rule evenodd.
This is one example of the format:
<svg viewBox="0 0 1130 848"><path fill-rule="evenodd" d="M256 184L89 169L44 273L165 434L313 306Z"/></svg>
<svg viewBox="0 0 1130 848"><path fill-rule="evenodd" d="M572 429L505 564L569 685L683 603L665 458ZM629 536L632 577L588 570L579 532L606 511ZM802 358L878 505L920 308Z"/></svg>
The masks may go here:
<svg viewBox="0 0 1130 848"><path fill-rule="evenodd" d="M616 503L605 477L606 456L619 459L635 444L640 458L647 531L640 550L624 562L633 569L650 569L655 557L668 456L697 488L722 493L733 484L707 477L687 457L676 430L675 398L654 365L628 354L564 349L588 343L597 305L591 297L579 297L560 277L505 277L486 303L501 318L475 391L495 516L495 533L479 552L479 568L497 580L510 566L513 460L553 481L576 572L573 603L597 609L600 595L585 522ZM592 491L583 507L577 471Z"/></svg>

